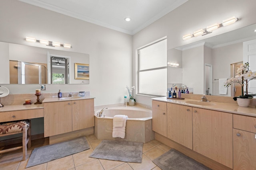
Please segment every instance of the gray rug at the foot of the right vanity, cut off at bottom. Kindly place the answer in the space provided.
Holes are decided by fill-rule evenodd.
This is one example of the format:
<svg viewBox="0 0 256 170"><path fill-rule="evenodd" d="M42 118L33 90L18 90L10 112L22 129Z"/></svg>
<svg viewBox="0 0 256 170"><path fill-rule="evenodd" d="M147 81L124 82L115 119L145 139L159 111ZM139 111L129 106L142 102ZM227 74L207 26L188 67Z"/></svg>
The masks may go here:
<svg viewBox="0 0 256 170"><path fill-rule="evenodd" d="M196 160L171 149L153 160L162 170L210 170Z"/></svg>

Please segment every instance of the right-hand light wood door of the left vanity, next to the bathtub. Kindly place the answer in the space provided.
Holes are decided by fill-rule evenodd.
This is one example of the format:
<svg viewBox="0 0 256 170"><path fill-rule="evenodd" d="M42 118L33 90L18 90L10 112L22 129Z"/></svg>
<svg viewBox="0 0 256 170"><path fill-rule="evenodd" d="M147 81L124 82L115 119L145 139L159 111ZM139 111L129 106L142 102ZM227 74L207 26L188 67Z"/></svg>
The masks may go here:
<svg viewBox="0 0 256 170"><path fill-rule="evenodd" d="M72 101L72 131L94 127L94 99Z"/></svg>

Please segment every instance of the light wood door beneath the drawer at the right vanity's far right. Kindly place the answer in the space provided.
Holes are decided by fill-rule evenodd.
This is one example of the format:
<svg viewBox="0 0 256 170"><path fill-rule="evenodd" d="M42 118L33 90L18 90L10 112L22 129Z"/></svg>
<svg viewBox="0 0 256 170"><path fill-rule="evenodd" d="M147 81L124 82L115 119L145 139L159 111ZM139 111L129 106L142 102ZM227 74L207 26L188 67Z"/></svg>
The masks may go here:
<svg viewBox="0 0 256 170"><path fill-rule="evenodd" d="M255 133L233 129L234 170L256 169Z"/></svg>

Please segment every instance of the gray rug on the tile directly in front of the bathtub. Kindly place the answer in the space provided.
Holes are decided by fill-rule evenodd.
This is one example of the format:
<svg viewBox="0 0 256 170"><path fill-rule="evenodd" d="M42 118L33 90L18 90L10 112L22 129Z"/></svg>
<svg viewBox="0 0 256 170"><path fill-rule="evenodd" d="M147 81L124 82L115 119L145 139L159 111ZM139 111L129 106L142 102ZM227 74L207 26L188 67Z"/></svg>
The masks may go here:
<svg viewBox="0 0 256 170"><path fill-rule="evenodd" d="M142 148L143 143L102 140L90 157L141 163Z"/></svg>

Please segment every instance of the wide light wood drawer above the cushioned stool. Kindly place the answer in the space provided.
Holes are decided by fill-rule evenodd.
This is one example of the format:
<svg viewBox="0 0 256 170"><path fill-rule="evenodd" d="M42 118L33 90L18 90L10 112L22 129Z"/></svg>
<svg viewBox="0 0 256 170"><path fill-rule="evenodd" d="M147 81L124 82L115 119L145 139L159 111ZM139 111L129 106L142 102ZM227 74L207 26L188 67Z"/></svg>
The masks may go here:
<svg viewBox="0 0 256 170"><path fill-rule="evenodd" d="M0 112L0 122L44 117L44 109L29 109Z"/></svg>

